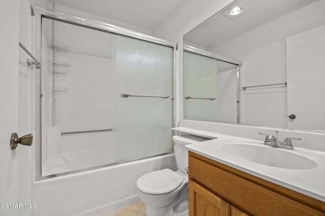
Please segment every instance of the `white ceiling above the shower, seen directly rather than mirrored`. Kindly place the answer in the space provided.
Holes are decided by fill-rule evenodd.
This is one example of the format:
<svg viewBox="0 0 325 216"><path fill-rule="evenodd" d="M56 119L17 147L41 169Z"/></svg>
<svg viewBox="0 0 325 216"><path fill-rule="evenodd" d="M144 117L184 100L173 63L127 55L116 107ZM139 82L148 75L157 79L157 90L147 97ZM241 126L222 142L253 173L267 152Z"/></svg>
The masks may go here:
<svg viewBox="0 0 325 216"><path fill-rule="evenodd" d="M153 31L185 0L50 0L60 5Z"/></svg>

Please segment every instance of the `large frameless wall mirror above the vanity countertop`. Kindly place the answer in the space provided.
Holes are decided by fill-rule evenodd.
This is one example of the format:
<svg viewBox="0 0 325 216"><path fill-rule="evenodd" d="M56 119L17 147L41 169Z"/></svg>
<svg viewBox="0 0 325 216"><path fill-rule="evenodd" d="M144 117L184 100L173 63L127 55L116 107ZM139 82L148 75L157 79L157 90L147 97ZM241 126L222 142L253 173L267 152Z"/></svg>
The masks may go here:
<svg viewBox="0 0 325 216"><path fill-rule="evenodd" d="M324 65L325 0L234 1L184 35L184 118L325 131Z"/></svg>

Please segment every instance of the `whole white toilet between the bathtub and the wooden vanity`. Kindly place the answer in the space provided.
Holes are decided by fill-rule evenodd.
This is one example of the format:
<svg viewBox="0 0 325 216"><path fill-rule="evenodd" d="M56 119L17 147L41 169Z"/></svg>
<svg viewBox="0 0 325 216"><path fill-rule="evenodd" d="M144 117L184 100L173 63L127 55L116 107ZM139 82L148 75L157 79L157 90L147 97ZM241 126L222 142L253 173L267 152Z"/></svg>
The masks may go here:
<svg viewBox="0 0 325 216"><path fill-rule="evenodd" d="M138 178L138 195L147 205L147 216L188 215L188 151L185 145L205 140L191 135L173 136L178 170L162 169Z"/></svg>

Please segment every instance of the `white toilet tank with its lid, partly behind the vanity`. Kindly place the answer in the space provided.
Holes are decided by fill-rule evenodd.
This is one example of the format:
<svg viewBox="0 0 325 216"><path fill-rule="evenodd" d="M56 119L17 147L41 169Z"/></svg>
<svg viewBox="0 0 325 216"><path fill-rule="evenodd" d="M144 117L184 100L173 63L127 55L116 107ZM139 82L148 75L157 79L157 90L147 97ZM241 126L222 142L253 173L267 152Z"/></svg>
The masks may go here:
<svg viewBox="0 0 325 216"><path fill-rule="evenodd" d="M195 142L206 141L208 139L209 138L196 137L192 135L173 136L174 152L178 170L187 174L185 168L188 167L188 150L185 149L185 146Z"/></svg>

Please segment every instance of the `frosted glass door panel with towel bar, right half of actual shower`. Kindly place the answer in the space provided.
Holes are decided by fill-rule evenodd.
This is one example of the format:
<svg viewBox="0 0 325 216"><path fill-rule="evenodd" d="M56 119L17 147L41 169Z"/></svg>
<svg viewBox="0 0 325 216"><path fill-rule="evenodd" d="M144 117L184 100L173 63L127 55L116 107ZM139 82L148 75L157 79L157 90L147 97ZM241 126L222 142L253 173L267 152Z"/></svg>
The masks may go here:
<svg viewBox="0 0 325 216"><path fill-rule="evenodd" d="M115 76L117 161L170 152L173 48L116 35Z"/></svg>

